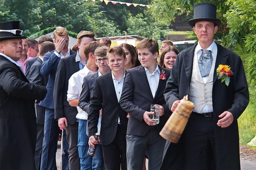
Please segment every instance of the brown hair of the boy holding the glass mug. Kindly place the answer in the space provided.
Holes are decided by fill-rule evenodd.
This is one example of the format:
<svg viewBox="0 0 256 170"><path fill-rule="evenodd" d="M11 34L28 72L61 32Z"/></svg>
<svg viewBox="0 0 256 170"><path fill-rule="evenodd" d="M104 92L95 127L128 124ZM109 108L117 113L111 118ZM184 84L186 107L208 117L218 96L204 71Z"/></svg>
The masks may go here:
<svg viewBox="0 0 256 170"><path fill-rule="evenodd" d="M152 38L145 38L144 40L140 41L138 43L138 45L136 46L137 51L143 48L148 48L148 50L154 54L157 53L157 55L159 54L159 47L158 47L158 43L156 40L152 39Z"/></svg>

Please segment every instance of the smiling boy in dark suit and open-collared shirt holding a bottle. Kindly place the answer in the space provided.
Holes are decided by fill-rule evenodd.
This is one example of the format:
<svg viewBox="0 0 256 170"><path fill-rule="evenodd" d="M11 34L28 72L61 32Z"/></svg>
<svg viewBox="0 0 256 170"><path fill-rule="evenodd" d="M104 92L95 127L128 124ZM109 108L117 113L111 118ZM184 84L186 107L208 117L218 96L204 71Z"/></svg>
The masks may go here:
<svg viewBox="0 0 256 170"><path fill-rule="evenodd" d="M106 170L120 170L120 164L122 170L127 170L125 136L128 119L127 113L119 104L125 79L126 61L122 47L117 46L108 50L107 64L112 71L96 78L89 106L89 145L94 146L99 141L101 142ZM98 131L101 109L100 136L96 141L93 135Z"/></svg>

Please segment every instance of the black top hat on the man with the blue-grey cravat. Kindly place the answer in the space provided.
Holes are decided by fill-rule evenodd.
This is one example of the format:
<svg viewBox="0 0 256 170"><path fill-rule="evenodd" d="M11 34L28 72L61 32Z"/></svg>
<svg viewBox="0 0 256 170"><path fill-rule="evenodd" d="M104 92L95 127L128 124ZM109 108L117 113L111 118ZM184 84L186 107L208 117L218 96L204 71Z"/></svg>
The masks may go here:
<svg viewBox="0 0 256 170"><path fill-rule="evenodd" d="M199 3L194 6L194 19L189 20L190 26L195 26L198 21L212 21L218 27L221 20L216 18L216 6L211 3Z"/></svg>

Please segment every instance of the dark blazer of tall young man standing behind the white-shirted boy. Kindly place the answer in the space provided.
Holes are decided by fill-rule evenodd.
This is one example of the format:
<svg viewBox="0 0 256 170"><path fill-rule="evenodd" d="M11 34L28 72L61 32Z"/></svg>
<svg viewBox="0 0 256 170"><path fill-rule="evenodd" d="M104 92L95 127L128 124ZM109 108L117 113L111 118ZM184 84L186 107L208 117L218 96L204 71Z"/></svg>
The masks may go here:
<svg viewBox="0 0 256 170"><path fill-rule="evenodd" d="M67 101L68 80L79 71L79 62L76 62L76 54L62 58L56 72L53 90L55 119L66 117L68 125L76 122L78 113L76 107L70 106Z"/></svg>

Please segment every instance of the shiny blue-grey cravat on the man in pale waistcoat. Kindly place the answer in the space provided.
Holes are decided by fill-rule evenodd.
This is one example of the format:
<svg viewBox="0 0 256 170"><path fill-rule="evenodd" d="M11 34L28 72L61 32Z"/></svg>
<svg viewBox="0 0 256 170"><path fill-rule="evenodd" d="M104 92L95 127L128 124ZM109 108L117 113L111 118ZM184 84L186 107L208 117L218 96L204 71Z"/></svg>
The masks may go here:
<svg viewBox="0 0 256 170"><path fill-rule="evenodd" d="M210 50L201 50L203 51L199 60L198 66L201 72L202 77L208 77L212 68L212 53Z"/></svg>

